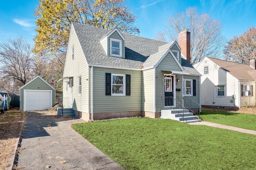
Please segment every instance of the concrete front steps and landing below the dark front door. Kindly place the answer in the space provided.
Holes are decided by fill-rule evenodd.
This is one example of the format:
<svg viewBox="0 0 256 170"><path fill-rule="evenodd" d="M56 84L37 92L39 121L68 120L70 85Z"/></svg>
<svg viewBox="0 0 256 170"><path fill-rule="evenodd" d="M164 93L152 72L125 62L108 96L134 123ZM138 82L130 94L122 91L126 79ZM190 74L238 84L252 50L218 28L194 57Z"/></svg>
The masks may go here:
<svg viewBox="0 0 256 170"><path fill-rule="evenodd" d="M172 119L172 120L186 122L186 123L193 123L193 122L202 121L202 120L198 119L197 116L194 116L193 113L190 113L188 109L184 110L184 121L183 121L181 116L183 116L183 111L182 110L180 110L180 109L168 109L168 110L161 110L160 118L162 118L162 119Z"/></svg>

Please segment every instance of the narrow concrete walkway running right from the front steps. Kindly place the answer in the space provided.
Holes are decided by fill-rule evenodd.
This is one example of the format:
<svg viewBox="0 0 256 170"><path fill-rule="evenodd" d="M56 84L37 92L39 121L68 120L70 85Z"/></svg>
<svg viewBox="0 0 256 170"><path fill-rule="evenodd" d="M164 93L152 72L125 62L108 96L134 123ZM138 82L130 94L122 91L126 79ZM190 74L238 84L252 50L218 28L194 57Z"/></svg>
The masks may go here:
<svg viewBox="0 0 256 170"><path fill-rule="evenodd" d="M228 126L228 125L221 125L218 123L211 123L208 121L200 121L200 122L194 122L194 123L188 123L188 124L190 124L190 125L206 125L206 126L218 127L218 128L222 128L222 129L228 129L228 130L232 130L232 131L238 131L238 132L242 132L242 133L249 133L252 135L256 135L256 131L253 131L253 130L242 129L239 127L233 127L233 126Z"/></svg>

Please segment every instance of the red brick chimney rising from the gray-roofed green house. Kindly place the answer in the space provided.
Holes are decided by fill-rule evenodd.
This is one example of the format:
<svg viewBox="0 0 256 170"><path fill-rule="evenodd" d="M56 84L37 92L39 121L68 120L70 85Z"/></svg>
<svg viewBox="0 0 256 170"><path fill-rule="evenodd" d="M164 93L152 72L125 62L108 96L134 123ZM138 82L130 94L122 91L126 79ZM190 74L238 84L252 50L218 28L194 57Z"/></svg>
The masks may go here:
<svg viewBox="0 0 256 170"><path fill-rule="evenodd" d="M190 56L190 32L188 29L184 29L180 31L178 35L179 46L181 48L181 53L186 57L187 61L191 63Z"/></svg>

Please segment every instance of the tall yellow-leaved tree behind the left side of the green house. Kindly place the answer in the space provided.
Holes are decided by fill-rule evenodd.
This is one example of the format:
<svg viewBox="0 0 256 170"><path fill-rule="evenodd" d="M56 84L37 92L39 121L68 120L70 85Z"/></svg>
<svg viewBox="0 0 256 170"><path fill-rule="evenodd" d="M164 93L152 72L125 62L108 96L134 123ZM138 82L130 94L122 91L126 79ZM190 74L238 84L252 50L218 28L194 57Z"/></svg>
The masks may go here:
<svg viewBox="0 0 256 170"><path fill-rule="evenodd" d="M136 16L124 0L39 0L36 7L34 53L64 68L69 31L72 22L94 27L138 34Z"/></svg>

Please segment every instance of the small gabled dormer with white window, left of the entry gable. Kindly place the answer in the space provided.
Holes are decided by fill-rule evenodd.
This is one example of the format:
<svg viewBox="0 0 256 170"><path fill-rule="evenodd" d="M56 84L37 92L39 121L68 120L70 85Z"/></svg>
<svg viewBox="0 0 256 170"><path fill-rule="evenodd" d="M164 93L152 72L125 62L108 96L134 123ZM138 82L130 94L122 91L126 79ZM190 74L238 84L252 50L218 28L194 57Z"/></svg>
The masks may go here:
<svg viewBox="0 0 256 170"><path fill-rule="evenodd" d="M102 38L100 43L106 55L125 59L124 40L124 35L118 28L114 28Z"/></svg>

